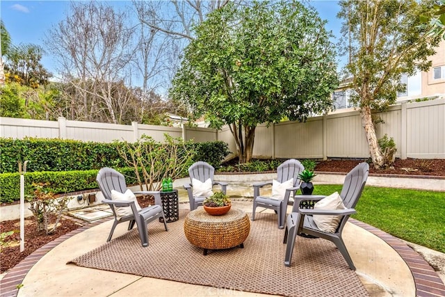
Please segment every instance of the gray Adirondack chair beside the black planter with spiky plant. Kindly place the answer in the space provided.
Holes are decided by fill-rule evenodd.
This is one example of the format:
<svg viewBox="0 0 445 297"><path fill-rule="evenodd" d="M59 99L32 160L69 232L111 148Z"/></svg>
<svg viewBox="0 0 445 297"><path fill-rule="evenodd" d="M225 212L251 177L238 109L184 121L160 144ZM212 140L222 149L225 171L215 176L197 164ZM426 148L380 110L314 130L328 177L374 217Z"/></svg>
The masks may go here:
<svg viewBox="0 0 445 297"><path fill-rule="evenodd" d="M277 199L273 197L261 196L260 188L266 186L268 184L273 184L270 182L263 182L259 184L253 185L253 211L252 211L252 220L255 220L255 210L257 207L264 207L267 209L273 209L277 213L278 227L280 229L284 228L284 220L286 218L286 209L288 204L292 204L289 198L293 198L293 195L300 188L300 177L298 174L305 170L305 167L302 166L302 163L296 159L289 159L282 163L277 168L277 182L283 183L288 181L289 179L293 179L293 187L286 189L286 194L284 195L284 199Z"/></svg>

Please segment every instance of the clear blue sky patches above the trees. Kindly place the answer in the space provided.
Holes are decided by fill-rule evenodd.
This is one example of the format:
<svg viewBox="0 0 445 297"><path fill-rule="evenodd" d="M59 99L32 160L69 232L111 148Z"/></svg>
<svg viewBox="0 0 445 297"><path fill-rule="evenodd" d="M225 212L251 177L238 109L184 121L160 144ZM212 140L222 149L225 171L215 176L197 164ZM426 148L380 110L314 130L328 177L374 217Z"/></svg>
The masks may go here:
<svg viewBox="0 0 445 297"><path fill-rule="evenodd" d="M108 1L115 6L131 5L131 1ZM318 0L310 2L322 19L327 19L327 29L339 36L341 22L337 19L338 1ZM45 33L52 26L65 19L70 1L0 1L0 15L14 45L33 43L44 47ZM54 72L54 63L49 55L42 58L42 64Z"/></svg>

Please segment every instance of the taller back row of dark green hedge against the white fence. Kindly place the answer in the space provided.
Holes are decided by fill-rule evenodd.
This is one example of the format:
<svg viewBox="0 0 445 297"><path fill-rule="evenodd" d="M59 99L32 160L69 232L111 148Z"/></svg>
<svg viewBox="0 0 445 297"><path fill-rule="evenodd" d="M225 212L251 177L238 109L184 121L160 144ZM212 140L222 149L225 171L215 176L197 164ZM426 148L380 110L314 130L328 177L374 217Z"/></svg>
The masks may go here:
<svg viewBox="0 0 445 297"><path fill-rule="evenodd" d="M0 138L0 172L18 172L17 162L29 160L29 172L92 170L102 167L124 168L115 143L94 143L57 138ZM190 143L196 150L194 161L218 167L229 154L227 143Z"/></svg>

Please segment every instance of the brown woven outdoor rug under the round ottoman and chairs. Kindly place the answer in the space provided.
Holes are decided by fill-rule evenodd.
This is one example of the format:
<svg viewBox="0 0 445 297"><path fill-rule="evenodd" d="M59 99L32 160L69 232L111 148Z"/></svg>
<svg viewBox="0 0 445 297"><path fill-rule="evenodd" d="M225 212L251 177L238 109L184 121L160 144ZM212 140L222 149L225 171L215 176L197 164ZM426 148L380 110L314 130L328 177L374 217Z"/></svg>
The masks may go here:
<svg viewBox="0 0 445 297"><path fill-rule="evenodd" d="M330 241L297 236L292 266L284 266L284 230L277 228L275 214L257 214L250 221L244 248L209 250L204 256L184 235L187 212L168 223L168 232L162 223L149 223L147 248L135 228L68 264L282 296L369 296Z"/></svg>

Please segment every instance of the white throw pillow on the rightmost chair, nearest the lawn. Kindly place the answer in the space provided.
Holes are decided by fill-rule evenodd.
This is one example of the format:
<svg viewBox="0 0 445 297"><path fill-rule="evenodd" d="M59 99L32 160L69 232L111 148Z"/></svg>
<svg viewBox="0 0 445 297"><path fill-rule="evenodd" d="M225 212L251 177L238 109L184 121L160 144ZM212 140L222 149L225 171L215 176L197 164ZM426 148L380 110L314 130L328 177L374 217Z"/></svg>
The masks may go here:
<svg viewBox="0 0 445 297"><path fill-rule="evenodd" d="M343 200L341 200L339 193L335 192L316 202L316 204L314 204L314 209L334 210L346 209L346 207L343 204ZM334 233L335 230L337 230L337 227L339 227L341 216L314 214L312 218L314 218L314 222L318 229L324 232Z"/></svg>

